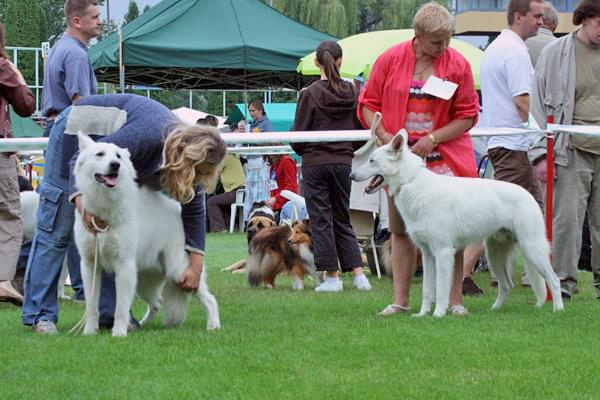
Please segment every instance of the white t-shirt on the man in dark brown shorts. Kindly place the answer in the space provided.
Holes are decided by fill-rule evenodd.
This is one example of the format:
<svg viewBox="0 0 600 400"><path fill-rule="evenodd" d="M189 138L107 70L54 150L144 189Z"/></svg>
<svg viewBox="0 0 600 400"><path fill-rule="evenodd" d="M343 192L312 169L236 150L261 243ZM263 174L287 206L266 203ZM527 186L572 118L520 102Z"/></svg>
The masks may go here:
<svg viewBox="0 0 600 400"><path fill-rule="evenodd" d="M482 127L521 127L514 97L531 94L533 72L523 39L510 29L502 30L481 60ZM527 151L528 135L492 136L487 147Z"/></svg>

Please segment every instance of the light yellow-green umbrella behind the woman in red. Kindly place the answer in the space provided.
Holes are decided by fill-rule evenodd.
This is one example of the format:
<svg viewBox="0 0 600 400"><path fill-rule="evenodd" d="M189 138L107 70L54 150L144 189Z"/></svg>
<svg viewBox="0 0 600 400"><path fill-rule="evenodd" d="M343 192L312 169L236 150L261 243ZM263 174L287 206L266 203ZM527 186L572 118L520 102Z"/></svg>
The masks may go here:
<svg viewBox="0 0 600 400"><path fill-rule="evenodd" d="M409 40L414 36L412 29L392 29L373 31L348 36L338 41L343 51L340 74L346 78L356 78L362 74L369 78L371 68L379 55L390 47ZM483 51L467 42L458 39L450 41L450 47L458 50L471 64L475 87L479 89L479 65ZM298 64L298 72L302 75L319 75L315 66L315 52L302 57Z"/></svg>

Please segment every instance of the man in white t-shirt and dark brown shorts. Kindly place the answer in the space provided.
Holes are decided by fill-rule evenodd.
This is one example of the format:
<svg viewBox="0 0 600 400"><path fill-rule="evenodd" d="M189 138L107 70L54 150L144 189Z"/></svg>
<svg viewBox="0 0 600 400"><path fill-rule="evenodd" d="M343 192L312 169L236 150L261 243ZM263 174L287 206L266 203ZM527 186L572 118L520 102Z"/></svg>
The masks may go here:
<svg viewBox="0 0 600 400"><path fill-rule="evenodd" d="M508 29L487 47L481 60L482 126L520 128L529 118L533 66L525 40L542 25L543 0L510 0ZM528 135L493 136L488 155L498 180L527 189L542 207L542 196L527 158Z"/></svg>

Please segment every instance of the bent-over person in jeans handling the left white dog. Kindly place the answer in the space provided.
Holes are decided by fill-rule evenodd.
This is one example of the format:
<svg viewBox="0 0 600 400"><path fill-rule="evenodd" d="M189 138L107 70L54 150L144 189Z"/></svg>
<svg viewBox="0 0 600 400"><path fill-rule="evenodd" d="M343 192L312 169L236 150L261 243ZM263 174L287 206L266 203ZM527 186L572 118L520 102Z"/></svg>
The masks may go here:
<svg viewBox="0 0 600 400"><path fill-rule="evenodd" d="M75 208L83 211L74 184L77 156L76 134L85 132L94 140L127 148L136 169L138 183L164 190L182 204L190 265L179 279L184 291L198 288L203 267L205 208L203 186L214 179L225 156L226 145L215 128L177 124L171 111L142 96L114 94L86 96L56 119L46 153L45 175L40 193L36 235L25 277L22 321L38 333L57 333L56 285L66 244L73 231ZM94 231L92 216L85 213L87 227ZM103 223L95 218L96 225ZM157 232L160 234L160 232ZM112 325L114 290L106 292L103 279L100 325ZM112 279L114 288L114 278ZM102 297L110 297L103 303ZM104 306L103 306L104 304ZM52 329L37 330L37 326Z"/></svg>

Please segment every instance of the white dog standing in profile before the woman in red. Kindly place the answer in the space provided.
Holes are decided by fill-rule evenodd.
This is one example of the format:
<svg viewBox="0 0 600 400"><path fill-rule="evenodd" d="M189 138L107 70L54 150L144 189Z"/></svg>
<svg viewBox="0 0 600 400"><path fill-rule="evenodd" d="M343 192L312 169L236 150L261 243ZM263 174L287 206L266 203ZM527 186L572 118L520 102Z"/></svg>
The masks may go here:
<svg viewBox="0 0 600 400"><path fill-rule="evenodd" d="M435 174L410 151L406 140L406 131L398 132L390 143L375 150L365 165L353 170L351 177L355 181L373 178L367 193L388 186L408 235L423 254L423 303L417 315L428 314L434 301L433 315L446 314L454 254L480 240L485 241L488 265L498 278L493 309L504 304L513 286L508 266L518 244L536 305L545 302L545 281L554 311L562 310L544 219L531 194L512 183Z"/></svg>

